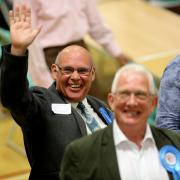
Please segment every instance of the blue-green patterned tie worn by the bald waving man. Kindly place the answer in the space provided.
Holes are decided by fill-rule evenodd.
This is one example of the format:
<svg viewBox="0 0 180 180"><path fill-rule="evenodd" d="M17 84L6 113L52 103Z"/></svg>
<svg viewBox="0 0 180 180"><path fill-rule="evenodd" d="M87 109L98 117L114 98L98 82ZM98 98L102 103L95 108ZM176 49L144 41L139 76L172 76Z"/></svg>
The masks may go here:
<svg viewBox="0 0 180 180"><path fill-rule="evenodd" d="M81 110L81 113L85 117L86 124L91 130L91 132L95 132L98 129L100 129L100 126L98 125L97 121L94 119L94 117L91 115L91 113L88 111L88 109L82 102L79 102L77 108Z"/></svg>

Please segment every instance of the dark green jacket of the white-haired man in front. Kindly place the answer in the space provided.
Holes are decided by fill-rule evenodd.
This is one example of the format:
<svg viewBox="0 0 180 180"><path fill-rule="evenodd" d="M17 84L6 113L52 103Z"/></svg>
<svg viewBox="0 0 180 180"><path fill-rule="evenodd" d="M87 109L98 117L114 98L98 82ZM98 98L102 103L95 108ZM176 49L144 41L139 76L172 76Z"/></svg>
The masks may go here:
<svg viewBox="0 0 180 180"><path fill-rule="evenodd" d="M167 144L180 149L178 134L155 127L151 130L158 149ZM112 126L68 145L61 165L62 180L120 180ZM172 179L172 174L169 177Z"/></svg>

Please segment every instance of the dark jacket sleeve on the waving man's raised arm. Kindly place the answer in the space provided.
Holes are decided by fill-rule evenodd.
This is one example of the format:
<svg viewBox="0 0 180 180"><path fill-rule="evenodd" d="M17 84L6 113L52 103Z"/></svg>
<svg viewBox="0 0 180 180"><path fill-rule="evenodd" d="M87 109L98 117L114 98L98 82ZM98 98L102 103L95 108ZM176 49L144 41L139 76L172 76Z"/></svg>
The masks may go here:
<svg viewBox="0 0 180 180"><path fill-rule="evenodd" d="M29 90L28 52L25 56L14 56L9 52L10 46L3 48L0 75L1 102L22 127L34 122L32 120L35 120L35 116L41 114L40 107L44 106L43 103L46 104L45 91Z"/></svg>

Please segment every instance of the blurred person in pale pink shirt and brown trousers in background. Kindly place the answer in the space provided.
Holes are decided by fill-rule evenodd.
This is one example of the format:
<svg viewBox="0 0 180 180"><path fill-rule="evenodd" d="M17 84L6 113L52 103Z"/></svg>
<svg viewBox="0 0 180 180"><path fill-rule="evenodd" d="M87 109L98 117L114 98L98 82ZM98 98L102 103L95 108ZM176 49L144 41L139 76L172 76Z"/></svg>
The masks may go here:
<svg viewBox="0 0 180 180"><path fill-rule="evenodd" d="M21 3L21 0L14 0L14 5ZM33 58L30 68L31 75L36 74L42 83L50 84L51 64L55 62L56 56L64 47L72 44L81 45L88 48L84 41L86 34L89 34L98 44L100 44L108 53L117 59L120 65L124 65L131 61L112 37L112 32L103 22L97 8L96 0L30 0L28 3L32 9L32 23L35 27L43 26L36 42L36 48L43 51L44 59L40 58L36 61ZM33 51L30 51L33 54ZM41 55L42 57L42 55ZM41 65L42 64L42 65ZM43 76L47 78L43 82L41 74L38 74L38 67L41 67ZM47 76L47 77L46 77ZM45 86L47 87L47 85ZM40 84L43 85L43 84ZM97 89L96 89L97 90Z"/></svg>

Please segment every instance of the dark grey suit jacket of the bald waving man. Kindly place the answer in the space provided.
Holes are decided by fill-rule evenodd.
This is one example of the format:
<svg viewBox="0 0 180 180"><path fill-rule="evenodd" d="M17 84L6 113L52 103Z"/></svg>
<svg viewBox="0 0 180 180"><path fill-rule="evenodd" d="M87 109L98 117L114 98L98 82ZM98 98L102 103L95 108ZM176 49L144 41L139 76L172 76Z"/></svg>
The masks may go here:
<svg viewBox="0 0 180 180"><path fill-rule="evenodd" d="M87 134L85 123L73 108L69 115L53 113L52 103L66 103L55 84L49 89L33 87L29 90L27 55L12 56L8 48L3 51L1 65L2 104L22 128L32 168L30 179L59 179L64 149L71 141ZM90 96L87 100L104 121L99 113L99 107L105 107L104 104Z"/></svg>

